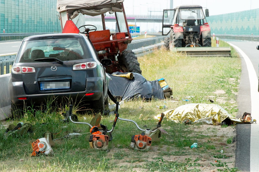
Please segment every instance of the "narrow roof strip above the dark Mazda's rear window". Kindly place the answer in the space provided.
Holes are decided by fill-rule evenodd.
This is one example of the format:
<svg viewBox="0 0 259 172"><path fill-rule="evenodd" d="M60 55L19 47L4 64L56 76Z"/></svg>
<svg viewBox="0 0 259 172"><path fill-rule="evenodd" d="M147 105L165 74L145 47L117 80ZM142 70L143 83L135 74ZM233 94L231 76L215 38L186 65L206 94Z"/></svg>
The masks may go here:
<svg viewBox="0 0 259 172"><path fill-rule="evenodd" d="M42 34L33 35L23 39L23 41L41 40L41 39L57 39L57 38L87 38L81 34Z"/></svg>

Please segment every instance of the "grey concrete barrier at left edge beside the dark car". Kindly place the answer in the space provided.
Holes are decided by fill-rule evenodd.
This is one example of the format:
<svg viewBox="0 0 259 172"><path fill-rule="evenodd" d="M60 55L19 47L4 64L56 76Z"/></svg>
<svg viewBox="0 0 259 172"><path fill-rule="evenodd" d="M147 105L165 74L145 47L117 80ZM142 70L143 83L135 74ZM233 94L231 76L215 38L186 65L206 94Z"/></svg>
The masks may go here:
<svg viewBox="0 0 259 172"><path fill-rule="evenodd" d="M11 99L8 88L10 74L0 75L0 120L11 117Z"/></svg>

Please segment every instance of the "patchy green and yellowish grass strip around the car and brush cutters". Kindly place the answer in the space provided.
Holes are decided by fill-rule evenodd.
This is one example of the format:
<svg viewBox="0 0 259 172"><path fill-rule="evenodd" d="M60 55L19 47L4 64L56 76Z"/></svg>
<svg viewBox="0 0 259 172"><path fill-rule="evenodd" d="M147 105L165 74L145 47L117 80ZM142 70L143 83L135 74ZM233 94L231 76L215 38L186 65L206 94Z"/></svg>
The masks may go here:
<svg viewBox="0 0 259 172"><path fill-rule="evenodd" d="M236 57L187 57L183 54L176 54L165 50L158 50L152 54L139 57L142 74L148 80L165 78L173 90L173 97L170 99L150 102L141 99L125 102L119 114L121 118L135 120L141 128L154 128L157 120L149 118L152 115L160 114L161 110L156 106L166 105L173 109L187 103L210 103L208 98L213 99L216 104L222 106L231 115L235 116L238 109L237 103L228 102L236 100L238 80L241 72L240 59ZM231 80L229 78L232 78ZM216 90L224 90L225 94L216 95ZM182 101L189 97L189 101ZM214 96L211 98L210 96ZM219 98L226 102L218 102ZM50 101L51 102L51 101ZM30 122L34 126L33 134L24 136L7 137L4 134L6 126L0 128L0 171L135 171L135 168L147 171L200 171L199 159L204 154L216 154L222 146L215 144L218 138L217 130L209 127L207 130L196 132L194 129L202 128L201 125L184 125L172 121L163 120L162 128L169 134L162 134L161 142L152 143L150 151L131 150L130 140L133 134L140 134L141 131L133 123L118 121L113 131L113 140L109 142L109 150L92 150L89 147L88 126L83 124L63 123L62 109L47 106L45 112L27 111L24 118L20 120L7 121L5 123L17 124L19 121ZM166 109L166 110L168 110ZM76 108L73 110L76 113ZM139 119L140 114L143 117ZM90 122L92 115L78 115L79 121ZM84 117L86 120L84 120ZM103 117L102 124L111 129L114 116ZM65 128L63 126L66 126ZM145 127L144 127L145 126ZM72 132L80 132L83 135L73 139L60 139L55 141L53 147L54 157L30 157L31 139L43 137L47 130L57 133L54 138L60 138ZM226 138L227 139L227 138ZM212 141L210 141L212 140ZM216 140L216 141L215 141ZM198 143L198 148L191 150L189 147ZM224 142L227 142L225 140ZM225 151L225 150L224 150ZM165 160L169 156L189 156L195 158L179 161ZM153 159L154 157L157 157ZM141 163L141 165L136 165ZM224 163L224 162L222 162ZM215 165L216 166L216 165ZM225 166L227 171L235 169ZM201 170L202 171L202 170Z"/></svg>

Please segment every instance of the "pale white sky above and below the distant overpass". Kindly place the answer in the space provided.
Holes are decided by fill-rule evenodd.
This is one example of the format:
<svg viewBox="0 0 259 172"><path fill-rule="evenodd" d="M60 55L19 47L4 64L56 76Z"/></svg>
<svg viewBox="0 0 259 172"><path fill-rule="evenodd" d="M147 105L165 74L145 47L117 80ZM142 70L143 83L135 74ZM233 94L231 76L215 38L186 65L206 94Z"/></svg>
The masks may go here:
<svg viewBox="0 0 259 172"><path fill-rule="evenodd" d="M163 9L170 8L171 0L124 0L126 16L132 15L162 15ZM259 8L259 0L173 0L173 7L183 4L198 4L209 9L209 15L233 13ZM259 17L259 16L258 16ZM129 24L135 24L128 22ZM162 30L162 23L141 23L141 32L158 32Z"/></svg>

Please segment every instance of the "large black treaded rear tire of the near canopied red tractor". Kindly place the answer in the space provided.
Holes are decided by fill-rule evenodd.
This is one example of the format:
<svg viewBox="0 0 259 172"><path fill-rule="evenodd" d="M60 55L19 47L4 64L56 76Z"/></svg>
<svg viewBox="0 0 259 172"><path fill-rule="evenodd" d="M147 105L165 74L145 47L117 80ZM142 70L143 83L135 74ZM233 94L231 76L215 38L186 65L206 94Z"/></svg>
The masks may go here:
<svg viewBox="0 0 259 172"><path fill-rule="evenodd" d="M120 55L120 61L125 65L127 71L123 72L134 72L142 75L142 70L140 70L138 58L132 50L124 50Z"/></svg>

